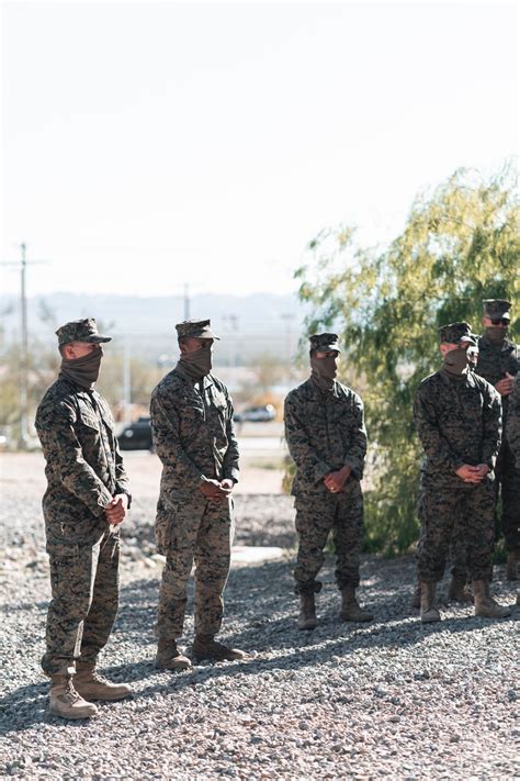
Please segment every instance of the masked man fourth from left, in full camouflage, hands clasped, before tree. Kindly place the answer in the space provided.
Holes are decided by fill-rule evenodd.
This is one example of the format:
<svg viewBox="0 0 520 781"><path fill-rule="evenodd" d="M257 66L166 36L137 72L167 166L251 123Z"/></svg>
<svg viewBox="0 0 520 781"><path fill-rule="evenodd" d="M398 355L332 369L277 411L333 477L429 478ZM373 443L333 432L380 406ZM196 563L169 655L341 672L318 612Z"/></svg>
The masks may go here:
<svg viewBox="0 0 520 781"><path fill-rule="evenodd" d="M420 383L414 419L426 459L422 468L418 571L421 621L439 621L434 605L446 553L456 537L466 542L475 614L508 615L488 593L491 562L494 467L500 445L500 398L468 370L466 348L475 344L467 323L440 330L443 366Z"/></svg>

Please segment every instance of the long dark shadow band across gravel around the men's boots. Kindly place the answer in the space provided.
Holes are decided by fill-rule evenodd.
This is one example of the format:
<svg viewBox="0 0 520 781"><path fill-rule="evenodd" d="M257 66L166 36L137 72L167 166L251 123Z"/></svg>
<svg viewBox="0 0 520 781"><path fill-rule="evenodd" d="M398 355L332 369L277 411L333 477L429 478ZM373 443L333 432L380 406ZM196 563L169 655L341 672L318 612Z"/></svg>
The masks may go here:
<svg viewBox="0 0 520 781"><path fill-rule="evenodd" d="M253 657L241 662L225 662L196 666L194 670L169 673L157 670L154 663L156 639L154 624L157 613L158 577L142 579L121 591L121 607L114 634L110 640L112 657L117 658L117 646L134 647L140 657L123 665L102 665L101 671L112 680L128 682L146 681L145 688L134 694L136 700L146 700L158 692L182 692L208 680L230 679L236 676L260 676L280 669L297 670L316 663L336 661L348 665L355 651L372 651L380 648L420 646L433 635L482 631L496 624L465 614L446 616L442 622L421 625L418 611L409 607L414 584L414 560L402 559L385 562L364 559L360 596L374 613L370 624L340 624L338 621L339 594L334 584L334 562L329 558L324 567L324 589L317 595L318 627L314 632L296 628L297 599L293 592L292 567L284 561L270 561L255 567L234 569L226 591L226 616L223 639L245 650L276 652L275 658ZM507 588L507 587L506 587ZM502 592L504 584L495 583ZM42 612L46 603L37 603ZM26 605L34 607L34 605ZM190 583L186 616L193 613L193 582ZM520 618L513 611L509 623ZM186 621L191 627L192 622ZM186 633L190 641L192 634ZM168 682L165 684L165 676ZM410 670L410 679L425 677L423 672ZM158 679L160 680L154 680ZM21 687L0 699L0 735L15 733L37 723L69 728L83 722L67 723L46 714L48 683ZM9 725L9 726L8 726Z"/></svg>

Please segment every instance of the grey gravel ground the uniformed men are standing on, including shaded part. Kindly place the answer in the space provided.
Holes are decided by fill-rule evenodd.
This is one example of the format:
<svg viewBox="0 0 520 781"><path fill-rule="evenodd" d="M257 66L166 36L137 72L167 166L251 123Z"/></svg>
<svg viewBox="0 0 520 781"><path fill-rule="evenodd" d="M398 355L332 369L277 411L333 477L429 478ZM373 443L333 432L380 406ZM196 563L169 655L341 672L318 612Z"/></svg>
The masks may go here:
<svg viewBox="0 0 520 781"><path fill-rule="evenodd" d="M126 526L121 609L100 661L134 695L66 723L46 713L38 666L49 598L39 495L26 480L2 492L2 778L520 778L520 609L486 622L446 605L444 621L421 626L408 606L412 560L366 558L360 594L375 621L340 624L328 560L318 628L297 632L292 501L244 494L237 542L289 548L286 560L231 570L223 636L251 659L160 672L155 501L142 497ZM498 568L494 591L512 603ZM192 637L189 620L186 646Z"/></svg>

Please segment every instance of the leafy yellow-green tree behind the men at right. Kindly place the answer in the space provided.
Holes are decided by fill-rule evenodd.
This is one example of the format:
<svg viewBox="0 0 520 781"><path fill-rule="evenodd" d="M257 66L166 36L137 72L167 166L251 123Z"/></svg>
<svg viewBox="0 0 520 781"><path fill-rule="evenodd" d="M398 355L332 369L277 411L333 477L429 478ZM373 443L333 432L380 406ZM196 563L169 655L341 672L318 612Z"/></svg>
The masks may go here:
<svg viewBox="0 0 520 781"><path fill-rule="evenodd" d="M402 551L417 537L422 451L411 408L420 380L439 366L439 326L466 320L478 332L482 299L508 298L519 333L518 227L511 168L487 180L461 169L417 198L384 252L357 246L355 231L342 226L314 239L296 271L299 298L313 308L309 332L337 328L365 386L371 549Z"/></svg>

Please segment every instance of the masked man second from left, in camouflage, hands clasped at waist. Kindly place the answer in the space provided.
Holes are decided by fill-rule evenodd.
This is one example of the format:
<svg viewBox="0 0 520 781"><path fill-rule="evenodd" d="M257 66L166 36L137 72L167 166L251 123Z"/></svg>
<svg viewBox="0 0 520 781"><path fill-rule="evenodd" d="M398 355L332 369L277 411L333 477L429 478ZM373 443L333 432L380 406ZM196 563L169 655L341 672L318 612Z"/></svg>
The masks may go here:
<svg viewBox="0 0 520 781"><path fill-rule="evenodd" d="M195 658L241 659L214 638L223 620L234 533L231 490L238 481L233 402L213 375L208 320L177 326L181 358L151 394L154 443L162 461L156 540L166 556L159 593L157 666L191 666L181 637L186 588L195 561Z"/></svg>

